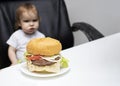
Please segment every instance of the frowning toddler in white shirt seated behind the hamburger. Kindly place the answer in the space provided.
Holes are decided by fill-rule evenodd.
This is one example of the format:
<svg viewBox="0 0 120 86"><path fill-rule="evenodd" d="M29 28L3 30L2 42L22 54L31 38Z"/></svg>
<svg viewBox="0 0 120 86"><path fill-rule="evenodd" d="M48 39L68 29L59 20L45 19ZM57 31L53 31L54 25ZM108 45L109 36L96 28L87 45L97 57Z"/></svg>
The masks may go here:
<svg viewBox="0 0 120 86"><path fill-rule="evenodd" d="M30 39L45 37L43 33L38 31L39 22L39 13L33 4L24 3L17 8L15 28L18 30L7 40L11 65L25 60L26 44Z"/></svg>

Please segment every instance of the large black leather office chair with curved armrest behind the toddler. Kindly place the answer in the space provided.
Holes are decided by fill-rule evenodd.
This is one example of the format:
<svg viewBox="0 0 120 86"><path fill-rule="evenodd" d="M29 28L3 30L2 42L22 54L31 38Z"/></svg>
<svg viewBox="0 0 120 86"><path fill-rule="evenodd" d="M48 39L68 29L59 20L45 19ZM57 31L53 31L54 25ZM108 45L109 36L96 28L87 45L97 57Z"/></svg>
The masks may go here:
<svg viewBox="0 0 120 86"><path fill-rule="evenodd" d="M85 22L76 22L71 26L64 0L0 0L0 69L10 65L6 41L15 31L15 10L19 4L27 2L36 5L39 10L39 31L60 40L63 49L74 46L73 31L84 32L89 41L104 37Z"/></svg>

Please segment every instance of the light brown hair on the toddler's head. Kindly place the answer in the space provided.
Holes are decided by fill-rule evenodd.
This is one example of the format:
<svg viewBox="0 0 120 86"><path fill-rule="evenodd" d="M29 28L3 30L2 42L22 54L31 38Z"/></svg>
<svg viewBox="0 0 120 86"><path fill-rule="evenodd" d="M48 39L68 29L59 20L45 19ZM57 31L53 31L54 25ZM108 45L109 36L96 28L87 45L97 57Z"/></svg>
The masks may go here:
<svg viewBox="0 0 120 86"><path fill-rule="evenodd" d="M37 8L31 4L31 3L24 3L21 4L17 9L16 9L16 16L15 16L15 29L19 29L20 26L20 17L24 12L30 12L32 11L32 13L34 13L35 15L37 15L38 20L40 20L40 16L39 16L39 12L37 10Z"/></svg>

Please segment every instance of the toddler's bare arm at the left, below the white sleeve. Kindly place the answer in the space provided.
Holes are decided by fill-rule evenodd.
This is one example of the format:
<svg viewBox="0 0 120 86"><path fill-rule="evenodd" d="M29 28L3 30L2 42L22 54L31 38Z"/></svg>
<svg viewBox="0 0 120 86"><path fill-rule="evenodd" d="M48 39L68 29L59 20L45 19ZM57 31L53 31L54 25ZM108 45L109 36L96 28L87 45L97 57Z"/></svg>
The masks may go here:
<svg viewBox="0 0 120 86"><path fill-rule="evenodd" d="M16 58L16 49L12 46L9 46L8 48L8 56L11 61L11 65L17 64L17 58Z"/></svg>

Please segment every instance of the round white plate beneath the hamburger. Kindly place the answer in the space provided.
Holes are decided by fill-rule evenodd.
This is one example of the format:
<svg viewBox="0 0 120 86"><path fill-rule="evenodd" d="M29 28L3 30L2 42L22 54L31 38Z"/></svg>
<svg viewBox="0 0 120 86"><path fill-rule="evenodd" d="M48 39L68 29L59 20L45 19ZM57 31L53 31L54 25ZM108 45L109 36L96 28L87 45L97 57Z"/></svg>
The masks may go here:
<svg viewBox="0 0 120 86"><path fill-rule="evenodd" d="M61 74L64 74L66 72L68 72L70 70L70 67L67 68L61 68L59 73L35 73L35 72L31 72L27 69L27 65L26 63L22 63L20 66L20 70L24 73L27 74L29 76L34 76L34 77L53 77L53 76L58 76Z"/></svg>

